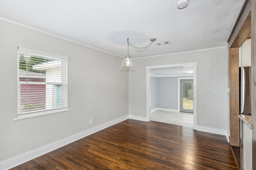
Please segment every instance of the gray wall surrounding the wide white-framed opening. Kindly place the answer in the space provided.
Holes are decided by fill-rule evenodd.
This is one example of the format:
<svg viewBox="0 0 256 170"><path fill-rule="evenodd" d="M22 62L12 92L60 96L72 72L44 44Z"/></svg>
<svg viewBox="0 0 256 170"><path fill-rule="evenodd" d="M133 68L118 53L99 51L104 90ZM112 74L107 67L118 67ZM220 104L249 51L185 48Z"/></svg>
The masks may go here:
<svg viewBox="0 0 256 170"><path fill-rule="evenodd" d="M197 123L227 129L226 47L134 59L129 72L129 113L146 117L146 66L197 62Z"/></svg>

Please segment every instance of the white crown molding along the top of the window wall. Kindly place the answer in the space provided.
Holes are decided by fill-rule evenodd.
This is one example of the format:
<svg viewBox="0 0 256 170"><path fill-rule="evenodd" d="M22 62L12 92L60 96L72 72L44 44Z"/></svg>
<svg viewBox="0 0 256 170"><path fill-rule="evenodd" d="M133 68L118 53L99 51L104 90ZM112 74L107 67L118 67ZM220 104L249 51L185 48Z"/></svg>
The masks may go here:
<svg viewBox="0 0 256 170"><path fill-rule="evenodd" d="M7 19L7 18L0 17L0 20L7 21L7 22L10 22L10 23L14 23L14 24L16 24L16 25L20 25L20 26L22 26L22 27L26 27L26 28L29 28L29 29L33 29L33 30L35 30L35 31L39 31L39 32L42 32L42 33L46 33L46 34L52 35L52 36L54 36L54 37L58 37L58 38L61 38L61 39L65 39L65 40L67 40L67 41L70 41L70 42L73 42L73 43L76 43L76 44L80 44L80 45L83 45L83 46L86 46L86 47L89 47L89 48L92 48L92 49L96 49L96 50L98 50L98 51L102 51L102 52L104 52L104 53L108 53L108 54L111 54L111 55L114 55L114 56L117 56L117 57L125 58L125 57L122 57L122 56L120 56L120 55L117 55L117 54L114 54L114 53L110 53L110 52L108 52L108 51L104 51L104 50L102 50L102 49L98 49L98 48L96 48L96 47L92 47L92 46L90 46L90 45L86 45L86 44L84 44L84 43L80 43L80 42L78 42L78 41L74 41L74 40L72 40L72 39L68 39L68 38L66 38L66 37L62 37L62 36L60 36L60 35L56 35L56 34L54 34L54 33L50 33L50 32L44 31L44 30L42 30L42 29L38 29L38 28L35 28L35 27L31 27L31 26L25 25L25 24L23 24L23 23L19 23L19 22L16 22L16 21L9 20L9 19Z"/></svg>

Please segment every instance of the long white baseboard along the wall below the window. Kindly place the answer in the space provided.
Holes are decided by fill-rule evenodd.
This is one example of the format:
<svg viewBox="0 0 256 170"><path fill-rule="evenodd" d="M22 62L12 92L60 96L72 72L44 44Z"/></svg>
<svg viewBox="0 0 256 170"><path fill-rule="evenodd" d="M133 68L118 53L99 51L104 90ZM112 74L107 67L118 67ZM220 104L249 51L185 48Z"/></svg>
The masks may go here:
<svg viewBox="0 0 256 170"><path fill-rule="evenodd" d="M19 156L14 157L14 158L10 158L8 160L0 162L0 169L1 170L8 170L8 169L13 168L15 166L18 166L18 165L20 165L20 164L22 164L24 162L32 160L32 159L34 159L34 158L36 158L38 156L46 154L46 153L48 153L48 152L50 152L52 150L58 149L60 147L63 147L64 145L67 145L69 143L77 141L78 139L81 139L83 137L91 135L92 133L95 133L95 132L100 131L102 129L105 129L105 128L109 127L109 126L112 126L112 125L114 125L116 123L124 121L124 120L126 120L128 118L129 118L129 115L120 117L118 119L114 119L112 121L103 123L102 125L98 125L96 127L88 129L86 131L82 131L82 132L77 133L75 135L72 135L70 137L66 137L64 139L61 139L60 141L56 141L54 143L50 143L50 144L48 144L46 146L40 147L40 148L35 149L35 150L31 150L29 152L26 152L24 154L21 154Z"/></svg>

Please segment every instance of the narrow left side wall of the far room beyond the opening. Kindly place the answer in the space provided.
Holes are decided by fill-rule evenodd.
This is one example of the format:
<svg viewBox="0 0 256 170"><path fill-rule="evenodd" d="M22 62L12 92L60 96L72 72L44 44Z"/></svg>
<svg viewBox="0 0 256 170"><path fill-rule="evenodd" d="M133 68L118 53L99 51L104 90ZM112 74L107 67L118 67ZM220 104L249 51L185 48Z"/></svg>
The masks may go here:
<svg viewBox="0 0 256 170"><path fill-rule="evenodd" d="M151 109L155 109L156 107L158 107L158 78L157 77L153 77L151 76L150 77L150 80L151 80L151 84L150 84L150 89L151 89L151 98L150 98L150 101L151 101Z"/></svg>

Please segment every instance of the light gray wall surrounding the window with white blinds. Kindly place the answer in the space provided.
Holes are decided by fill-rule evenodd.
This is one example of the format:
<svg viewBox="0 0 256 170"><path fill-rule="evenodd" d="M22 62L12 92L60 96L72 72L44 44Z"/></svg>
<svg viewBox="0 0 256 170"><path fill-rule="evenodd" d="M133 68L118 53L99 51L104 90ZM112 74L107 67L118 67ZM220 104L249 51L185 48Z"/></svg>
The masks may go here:
<svg viewBox="0 0 256 170"><path fill-rule="evenodd" d="M17 47L70 57L70 111L13 121ZM128 72L120 70L120 57L0 20L0 59L0 162L128 115Z"/></svg>

